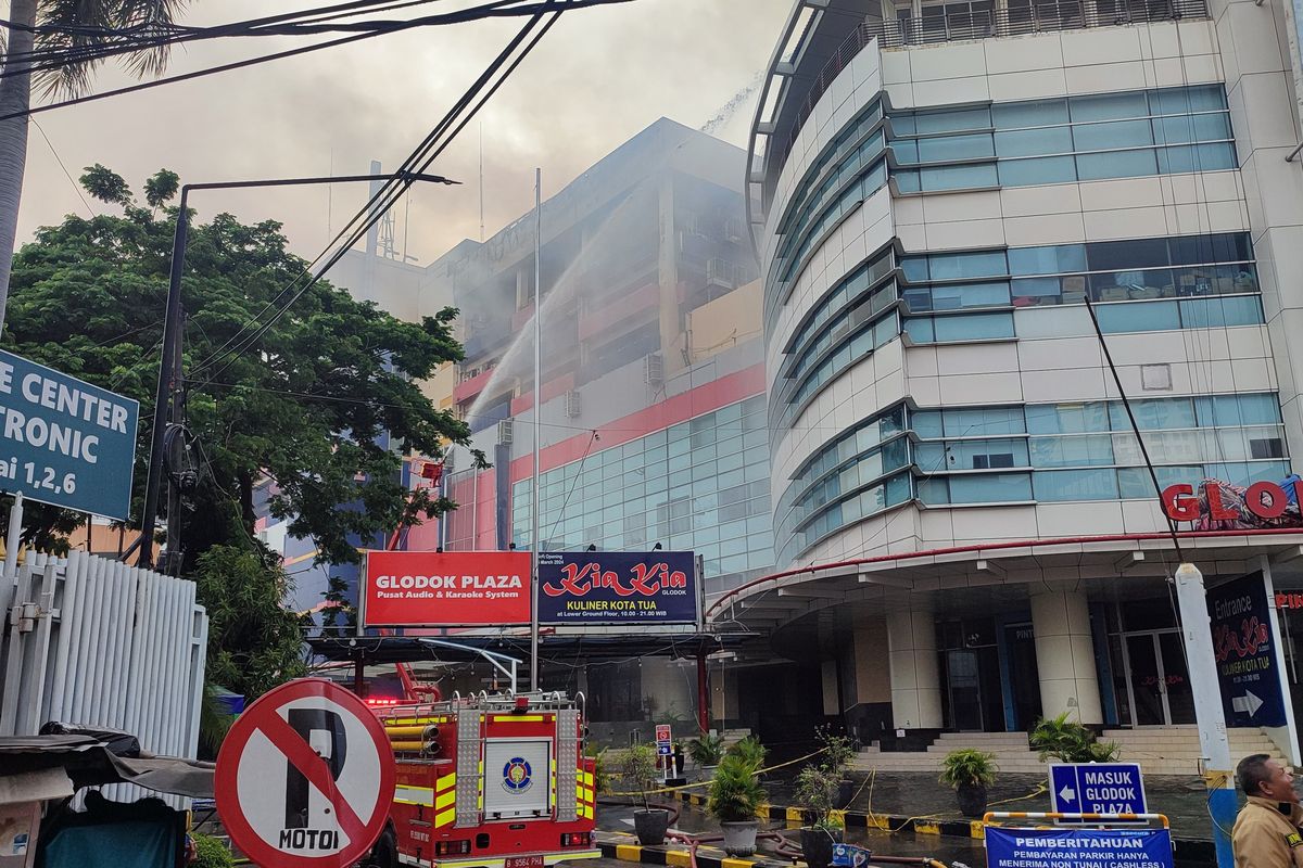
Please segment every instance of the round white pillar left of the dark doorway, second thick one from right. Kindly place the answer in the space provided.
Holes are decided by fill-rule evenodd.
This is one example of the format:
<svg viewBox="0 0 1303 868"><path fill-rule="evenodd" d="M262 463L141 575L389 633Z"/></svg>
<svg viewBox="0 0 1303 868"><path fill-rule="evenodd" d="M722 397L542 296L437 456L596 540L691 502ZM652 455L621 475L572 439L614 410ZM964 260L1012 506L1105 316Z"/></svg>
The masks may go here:
<svg viewBox="0 0 1303 868"><path fill-rule="evenodd" d="M891 717L896 729L941 729L937 626L932 606L887 614Z"/></svg>

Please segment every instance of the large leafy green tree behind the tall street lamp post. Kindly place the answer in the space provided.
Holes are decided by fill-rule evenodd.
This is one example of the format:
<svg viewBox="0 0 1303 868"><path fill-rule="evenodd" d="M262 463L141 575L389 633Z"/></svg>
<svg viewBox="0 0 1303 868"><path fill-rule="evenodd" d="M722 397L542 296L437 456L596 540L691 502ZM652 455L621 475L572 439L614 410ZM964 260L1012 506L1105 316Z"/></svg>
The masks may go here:
<svg viewBox="0 0 1303 868"><path fill-rule="evenodd" d="M137 206L104 167L87 168L83 185L122 213L69 216L38 230L14 259L5 346L141 402L138 517L176 221L165 202L179 178L164 170L149 180L155 210ZM322 281L250 346L222 355L304 267L275 221L250 226L219 213L192 226L184 355L202 472L182 517L186 569L214 545L249 547L255 496L266 497L274 517L289 519L292 535L313 539L319 560L335 563L357 561L357 537L420 523L451 505L429 491L409 498L400 466L403 450L439 457L447 442L469 437L417 385L461 358L452 308L404 323ZM33 518L29 540L55 540L76 524L57 510Z"/></svg>

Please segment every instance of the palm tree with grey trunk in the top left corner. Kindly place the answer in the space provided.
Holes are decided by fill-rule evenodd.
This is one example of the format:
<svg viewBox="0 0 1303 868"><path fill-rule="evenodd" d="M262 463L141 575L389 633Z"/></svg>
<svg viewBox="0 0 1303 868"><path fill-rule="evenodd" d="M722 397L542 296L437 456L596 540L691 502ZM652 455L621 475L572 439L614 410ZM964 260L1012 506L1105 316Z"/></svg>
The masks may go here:
<svg viewBox="0 0 1303 868"><path fill-rule="evenodd" d="M83 51L103 44L100 34L82 29L138 29L147 34L151 25L167 25L185 0L10 0L8 44L4 46L4 78L0 78L0 116L26 112L33 87L43 95L86 92L102 59L81 59L55 68L33 64L46 52ZM57 30L33 29L55 27ZM124 55L125 65L137 75L155 74L167 62L167 46L149 46ZM35 72L31 66L40 66ZM4 328L9 299L9 268L18 230L18 200L27 164L27 118L0 121L0 329Z"/></svg>

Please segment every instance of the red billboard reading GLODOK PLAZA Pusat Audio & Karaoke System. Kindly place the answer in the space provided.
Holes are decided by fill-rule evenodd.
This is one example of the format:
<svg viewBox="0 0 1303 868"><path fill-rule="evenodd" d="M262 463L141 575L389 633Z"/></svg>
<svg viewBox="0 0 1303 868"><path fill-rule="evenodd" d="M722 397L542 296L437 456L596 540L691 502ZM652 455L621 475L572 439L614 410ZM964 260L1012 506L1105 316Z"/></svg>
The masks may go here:
<svg viewBox="0 0 1303 868"><path fill-rule="evenodd" d="M529 623L529 552L367 552L366 627Z"/></svg>

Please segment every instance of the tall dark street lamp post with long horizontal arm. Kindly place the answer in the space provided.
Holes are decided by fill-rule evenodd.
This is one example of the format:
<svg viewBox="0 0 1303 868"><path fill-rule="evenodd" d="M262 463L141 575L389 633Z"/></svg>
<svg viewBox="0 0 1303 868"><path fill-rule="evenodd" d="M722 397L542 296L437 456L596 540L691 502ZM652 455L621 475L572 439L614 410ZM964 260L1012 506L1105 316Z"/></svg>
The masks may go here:
<svg viewBox="0 0 1303 868"><path fill-rule="evenodd" d="M159 493L163 487L163 450L167 429L180 424L184 413L184 385L181 372L181 275L185 272L185 246L190 234L190 216L186 210L190 190L237 190L246 187L296 187L311 183L351 183L360 181L410 180L431 183L459 183L438 174L399 172L396 174L345 174L337 177L313 178L274 178L261 181L215 181L208 183L186 183L181 187L181 199L176 215L176 234L172 239L172 271L167 289L167 306L163 319L163 350L159 358L159 381L154 392L154 427L150 429L150 466L145 485L145 511L141 515L141 536L137 543L141 550L137 566L151 566L154 561L154 524L158 518ZM180 498L169 498L167 527L168 571L180 567L180 534L177 521Z"/></svg>

